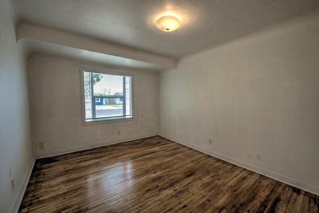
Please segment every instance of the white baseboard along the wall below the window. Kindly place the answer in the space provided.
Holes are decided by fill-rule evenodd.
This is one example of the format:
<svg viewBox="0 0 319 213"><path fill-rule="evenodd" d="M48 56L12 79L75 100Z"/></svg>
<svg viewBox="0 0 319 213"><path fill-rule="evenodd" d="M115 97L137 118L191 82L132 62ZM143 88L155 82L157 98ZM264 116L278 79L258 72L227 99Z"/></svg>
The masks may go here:
<svg viewBox="0 0 319 213"><path fill-rule="evenodd" d="M40 158L57 156L57 155L63 155L63 154L71 153L71 152L83 151L86 149L92 149L92 148L97 148L97 147L101 147L101 146L123 143L123 142L131 141L131 140L137 140L137 139L152 137L152 136L156 136L156 135L158 135L158 133L144 134L144 135L139 135L139 136L135 136L135 137L128 137L128 138L122 138L119 140L113 140L111 142L103 142L103 143L97 143L97 144L91 144L91 145L84 145L84 146L67 148L67 149L62 149L62 150L57 150L57 151L51 151L51 152L35 153L34 158L40 159Z"/></svg>

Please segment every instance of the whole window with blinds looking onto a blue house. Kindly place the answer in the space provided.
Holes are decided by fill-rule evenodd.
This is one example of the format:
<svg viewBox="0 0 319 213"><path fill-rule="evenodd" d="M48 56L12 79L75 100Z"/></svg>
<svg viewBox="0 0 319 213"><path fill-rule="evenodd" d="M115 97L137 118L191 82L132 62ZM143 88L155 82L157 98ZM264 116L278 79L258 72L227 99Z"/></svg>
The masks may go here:
<svg viewBox="0 0 319 213"><path fill-rule="evenodd" d="M83 124L133 119L130 73L81 68Z"/></svg>

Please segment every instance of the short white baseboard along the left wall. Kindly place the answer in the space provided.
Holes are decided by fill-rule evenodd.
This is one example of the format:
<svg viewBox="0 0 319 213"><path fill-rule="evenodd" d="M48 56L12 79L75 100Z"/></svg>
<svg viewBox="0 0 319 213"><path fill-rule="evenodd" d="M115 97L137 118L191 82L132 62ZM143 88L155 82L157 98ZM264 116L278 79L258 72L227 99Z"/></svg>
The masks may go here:
<svg viewBox="0 0 319 213"><path fill-rule="evenodd" d="M10 213L17 213L19 211L26 187L29 183L30 177L31 177L31 173L32 173L32 169L35 163L35 158L33 157L32 160L29 163L28 169L24 175L24 178L22 180L22 183L20 185L19 191L17 193L17 196L14 200L14 203L11 207Z"/></svg>

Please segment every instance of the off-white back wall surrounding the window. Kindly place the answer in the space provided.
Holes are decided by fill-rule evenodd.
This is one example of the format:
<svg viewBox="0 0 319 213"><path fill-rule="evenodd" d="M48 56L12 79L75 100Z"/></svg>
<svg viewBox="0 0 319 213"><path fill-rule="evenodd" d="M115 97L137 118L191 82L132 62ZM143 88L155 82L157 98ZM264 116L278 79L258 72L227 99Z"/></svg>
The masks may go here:
<svg viewBox="0 0 319 213"><path fill-rule="evenodd" d="M159 131L159 75L134 72L135 120L82 125L80 66L105 68L80 60L44 54L28 63L33 152L36 154L124 141ZM121 131L121 135L118 135ZM39 149L38 142L45 149ZM72 150L71 150L72 151Z"/></svg>

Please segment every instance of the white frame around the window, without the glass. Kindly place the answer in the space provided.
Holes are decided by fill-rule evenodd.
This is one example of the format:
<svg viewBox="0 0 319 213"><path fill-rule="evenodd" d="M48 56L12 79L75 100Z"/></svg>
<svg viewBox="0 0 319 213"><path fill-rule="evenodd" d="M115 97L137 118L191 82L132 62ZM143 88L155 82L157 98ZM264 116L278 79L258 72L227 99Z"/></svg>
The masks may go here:
<svg viewBox="0 0 319 213"><path fill-rule="evenodd" d="M84 71L92 73L101 74L111 74L111 75L121 75L131 77L131 108L132 116L118 116L118 117L103 117L103 118L93 118L86 120L85 117L85 97L84 97ZM134 74L132 72L126 71L113 71L98 68L80 67L80 77L81 77L81 103L82 103L82 124L83 125L94 125L100 123L113 123L113 122L123 122L123 121L133 121L134 118ZM124 92L124 91L123 91Z"/></svg>

